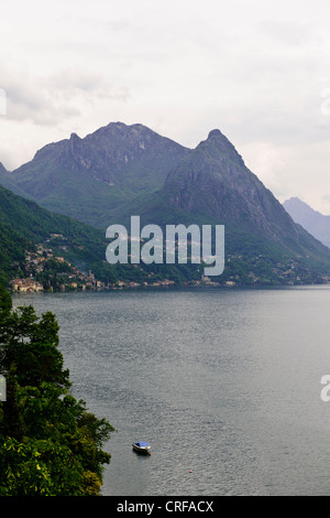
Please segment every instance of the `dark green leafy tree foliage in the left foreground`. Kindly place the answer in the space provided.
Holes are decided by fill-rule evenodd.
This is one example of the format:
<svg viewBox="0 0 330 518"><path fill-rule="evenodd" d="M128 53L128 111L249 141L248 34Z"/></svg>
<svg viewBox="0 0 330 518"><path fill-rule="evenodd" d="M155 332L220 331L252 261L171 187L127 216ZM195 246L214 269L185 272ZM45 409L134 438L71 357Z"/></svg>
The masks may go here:
<svg viewBox="0 0 330 518"><path fill-rule="evenodd" d="M70 393L52 313L12 309L0 285L0 496L96 496L113 428Z"/></svg>

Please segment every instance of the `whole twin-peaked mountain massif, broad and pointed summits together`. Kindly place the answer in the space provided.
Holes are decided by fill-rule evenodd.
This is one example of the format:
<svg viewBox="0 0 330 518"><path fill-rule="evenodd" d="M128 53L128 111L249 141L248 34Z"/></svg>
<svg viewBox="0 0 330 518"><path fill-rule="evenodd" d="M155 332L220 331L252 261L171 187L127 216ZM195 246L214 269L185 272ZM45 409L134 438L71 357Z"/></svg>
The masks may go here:
<svg viewBox="0 0 330 518"><path fill-rule="evenodd" d="M73 133L51 143L13 172L0 168L0 183L53 217L74 217L103 235L110 224L128 225L131 215L161 226L223 224L220 283L330 279L330 250L293 220L218 129L187 149L142 125L112 122L85 139ZM184 274L198 276L196 268Z"/></svg>

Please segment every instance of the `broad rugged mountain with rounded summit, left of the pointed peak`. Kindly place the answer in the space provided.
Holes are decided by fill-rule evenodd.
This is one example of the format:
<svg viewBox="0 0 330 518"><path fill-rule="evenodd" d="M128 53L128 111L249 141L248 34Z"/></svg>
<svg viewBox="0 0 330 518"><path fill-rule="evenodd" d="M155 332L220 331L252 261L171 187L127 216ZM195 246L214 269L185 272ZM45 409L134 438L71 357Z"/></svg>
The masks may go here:
<svg viewBox="0 0 330 518"><path fill-rule="evenodd" d="M158 188L188 152L142 125L111 122L84 139L72 133L45 145L31 162L4 175L6 186L50 211L106 229L113 211Z"/></svg>

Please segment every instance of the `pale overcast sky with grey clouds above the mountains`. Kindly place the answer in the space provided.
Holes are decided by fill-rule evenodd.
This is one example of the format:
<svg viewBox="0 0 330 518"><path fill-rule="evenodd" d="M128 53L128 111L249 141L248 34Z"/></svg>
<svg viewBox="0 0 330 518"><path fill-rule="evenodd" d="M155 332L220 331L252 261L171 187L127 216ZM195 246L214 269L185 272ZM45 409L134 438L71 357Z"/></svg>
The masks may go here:
<svg viewBox="0 0 330 518"><path fill-rule="evenodd" d="M330 214L329 0L30 0L0 10L0 161L109 122L219 128L280 201Z"/></svg>

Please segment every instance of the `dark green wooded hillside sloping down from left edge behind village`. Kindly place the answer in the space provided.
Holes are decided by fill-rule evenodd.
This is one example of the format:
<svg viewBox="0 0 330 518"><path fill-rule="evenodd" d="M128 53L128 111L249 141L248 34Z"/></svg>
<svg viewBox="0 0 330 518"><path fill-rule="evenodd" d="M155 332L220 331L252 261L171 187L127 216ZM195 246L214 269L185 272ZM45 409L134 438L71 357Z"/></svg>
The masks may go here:
<svg viewBox="0 0 330 518"><path fill-rule="evenodd" d="M50 239L52 234L57 237ZM106 233L68 216L51 213L35 202L22 198L0 185L0 280L4 285L14 277L25 277L25 251L33 251L37 244L48 240L54 252L63 256L81 271L92 271L106 283L119 279L127 282L151 282L168 278L183 283L198 277L195 267L178 265L109 265ZM65 247L65 250L63 250ZM65 266L48 260L45 271L37 279L47 287ZM30 273L29 273L30 274ZM197 277L196 277L197 276ZM200 278L200 276L199 276Z"/></svg>

